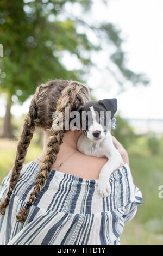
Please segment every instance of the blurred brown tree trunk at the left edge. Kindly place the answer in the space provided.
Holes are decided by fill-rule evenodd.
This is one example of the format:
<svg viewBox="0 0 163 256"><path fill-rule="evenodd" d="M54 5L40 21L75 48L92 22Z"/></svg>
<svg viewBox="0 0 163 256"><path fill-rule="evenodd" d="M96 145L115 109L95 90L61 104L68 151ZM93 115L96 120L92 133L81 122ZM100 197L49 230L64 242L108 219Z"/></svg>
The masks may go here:
<svg viewBox="0 0 163 256"><path fill-rule="evenodd" d="M5 110L4 123L3 123L3 133L2 137L4 138L14 138L11 127L11 96L7 98L7 106Z"/></svg>

